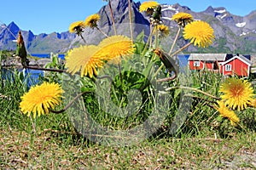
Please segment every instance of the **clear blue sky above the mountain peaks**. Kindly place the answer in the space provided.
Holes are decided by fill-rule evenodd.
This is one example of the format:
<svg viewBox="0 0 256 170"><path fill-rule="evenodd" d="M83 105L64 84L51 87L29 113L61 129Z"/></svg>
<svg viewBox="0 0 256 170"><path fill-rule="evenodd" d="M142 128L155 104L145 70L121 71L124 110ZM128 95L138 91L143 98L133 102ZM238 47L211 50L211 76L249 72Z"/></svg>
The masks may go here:
<svg viewBox="0 0 256 170"><path fill-rule="evenodd" d="M137 0L134 0L138 2ZM143 3L145 0L141 0ZM158 3L185 5L199 12L208 6L225 7L231 14L244 16L256 9L255 0L158 0ZM34 34L67 31L73 21L84 20L106 5L102 0L2 0L0 24L11 21L21 30L31 30Z"/></svg>

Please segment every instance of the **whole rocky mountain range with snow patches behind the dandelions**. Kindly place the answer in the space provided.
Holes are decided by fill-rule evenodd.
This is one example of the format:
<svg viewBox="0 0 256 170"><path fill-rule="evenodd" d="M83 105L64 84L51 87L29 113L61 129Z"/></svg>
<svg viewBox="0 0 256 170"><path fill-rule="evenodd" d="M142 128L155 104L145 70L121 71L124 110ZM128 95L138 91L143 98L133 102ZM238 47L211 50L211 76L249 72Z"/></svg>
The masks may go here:
<svg viewBox="0 0 256 170"><path fill-rule="evenodd" d="M118 33L130 36L128 2L126 0L113 0L111 3ZM145 35L149 34L148 17L139 12L140 4L139 2L132 2L133 37L137 37L141 31L144 31ZM256 54L256 10L246 16L237 16L230 14L224 7L212 8L212 6L209 6L201 12L194 12L189 7L181 6L178 3L161 4L161 7L164 24L173 30L170 37L162 41L162 48L166 48L166 50L170 47L170 42L173 41L177 30L176 23L171 20L172 15L177 12L186 12L192 14L195 20L207 21L214 29L216 37L210 48L202 49L190 46L188 48L189 52ZM108 5L103 6L98 14L101 15L101 20L98 23L99 28L108 33L108 35L113 35ZM15 49L14 40L19 30L19 27L14 22L10 23L9 26L1 26L0 49ZM84 43L80 37L76 37L75 34L71 34L68 31L53 32L49 35L34 35L32 31L22 31L22 35L30 53L63 53L69 48L77 47L79 44ZM90 44L97 44L104 38L101 32L90 28L84 30L83 36L86 42ZM182 38L180 40L177 48L186 43Z"/></svg>

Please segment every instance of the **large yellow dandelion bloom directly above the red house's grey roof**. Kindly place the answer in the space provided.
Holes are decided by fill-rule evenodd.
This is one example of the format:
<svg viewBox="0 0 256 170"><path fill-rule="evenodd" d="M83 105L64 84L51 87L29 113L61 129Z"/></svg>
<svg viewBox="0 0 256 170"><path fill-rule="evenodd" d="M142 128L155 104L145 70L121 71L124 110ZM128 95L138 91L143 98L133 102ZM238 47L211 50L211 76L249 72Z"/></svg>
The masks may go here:
<svg viewBox="0 0 256 170"><path fill-rule="evenodd" d="M205 48L212 44L213 32L212 27L207 22L197 20L184 27L183 37L186 40L190 39L190 42L193 42L195 46Z"/></svg>

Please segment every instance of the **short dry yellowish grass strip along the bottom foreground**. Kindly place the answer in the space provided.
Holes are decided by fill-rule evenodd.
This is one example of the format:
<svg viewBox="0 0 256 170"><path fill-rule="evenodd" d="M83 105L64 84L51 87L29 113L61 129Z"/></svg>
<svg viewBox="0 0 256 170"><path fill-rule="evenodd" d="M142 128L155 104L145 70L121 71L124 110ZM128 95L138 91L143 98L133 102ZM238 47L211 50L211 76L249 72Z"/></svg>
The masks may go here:
<svg viewBox="0 0 256 170"><path fill-rule="evenodd" d="M172 169L256 167L256 134L232 139L154 139L131 147L82 142L60 133L3 130L1 168L29 169Z"/></svg>

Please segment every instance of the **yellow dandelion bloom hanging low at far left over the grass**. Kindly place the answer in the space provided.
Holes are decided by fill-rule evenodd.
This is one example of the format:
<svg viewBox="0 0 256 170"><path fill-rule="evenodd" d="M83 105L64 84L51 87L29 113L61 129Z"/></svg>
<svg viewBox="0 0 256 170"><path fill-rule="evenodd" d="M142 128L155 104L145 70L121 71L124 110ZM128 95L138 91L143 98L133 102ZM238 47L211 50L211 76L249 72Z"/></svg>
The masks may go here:
<svg viewBox="0 0 256 170"><path fill-rule="evenodd" d="M54 109L55 105L61 103L61 94L64 91L57 83L44 82L41 85L30 88L30 90L21 96L20 111L27 116L33 113L33 116L49 114L49 109Z"/></svg>

